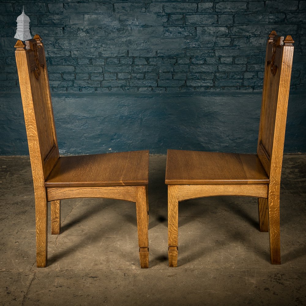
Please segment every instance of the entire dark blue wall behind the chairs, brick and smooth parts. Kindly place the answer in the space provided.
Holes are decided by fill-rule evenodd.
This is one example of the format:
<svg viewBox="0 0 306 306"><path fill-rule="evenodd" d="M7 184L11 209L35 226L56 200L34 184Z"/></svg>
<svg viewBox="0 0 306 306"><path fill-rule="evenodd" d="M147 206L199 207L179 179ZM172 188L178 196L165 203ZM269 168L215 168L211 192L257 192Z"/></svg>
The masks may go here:
<svg viewBox="0 0 306 306"><path fill-rule="evenodd" d="M0 3L0 154L28 154L22 5L45 44L62 154L254 152L273 29L295 40L285 152L306 152L306 1L13 0Z"/></svg>

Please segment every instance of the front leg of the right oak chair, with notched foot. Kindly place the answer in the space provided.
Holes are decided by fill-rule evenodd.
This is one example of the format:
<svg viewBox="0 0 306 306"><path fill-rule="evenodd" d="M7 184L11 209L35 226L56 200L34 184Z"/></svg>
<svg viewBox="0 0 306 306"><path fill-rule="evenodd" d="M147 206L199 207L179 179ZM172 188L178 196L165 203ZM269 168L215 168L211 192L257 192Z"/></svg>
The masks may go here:
<svg viewBox="0 0 306 306"><path fill-rule="evenodd" d="M168 185L168 259L169 267L177 267L178 255L178 187Z"/></svg>

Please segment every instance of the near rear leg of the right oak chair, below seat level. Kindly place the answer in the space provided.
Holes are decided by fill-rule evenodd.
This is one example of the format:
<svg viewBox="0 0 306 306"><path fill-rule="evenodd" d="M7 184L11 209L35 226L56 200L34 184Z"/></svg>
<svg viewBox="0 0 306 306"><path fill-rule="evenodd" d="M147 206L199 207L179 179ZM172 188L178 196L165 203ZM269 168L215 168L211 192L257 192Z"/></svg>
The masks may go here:
<svg viewBox="0 0 306 306"><path fill-rule="evenodd" d="M281 241L279 224L279 194L268 196L268 220L270 239L270 259L274 265L281 264Z"/></svg>

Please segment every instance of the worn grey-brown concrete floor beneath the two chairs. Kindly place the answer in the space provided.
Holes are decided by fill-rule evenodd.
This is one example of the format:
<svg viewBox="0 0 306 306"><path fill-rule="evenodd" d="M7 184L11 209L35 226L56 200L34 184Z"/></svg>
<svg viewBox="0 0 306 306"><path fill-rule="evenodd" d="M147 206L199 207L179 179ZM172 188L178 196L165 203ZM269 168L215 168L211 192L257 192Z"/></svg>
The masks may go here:
<svg viewBox="0 0 306 306"><path fill-rule="evenodd" d="M62 201L62 233L36 268L28 157L0 157L1 305L306 305L306 155L285 155L282 264L270 264L257 200L209 197L179 205L178 267L167 262L165 156L151 156L150 268L140 269L136 207Z"/></svg>

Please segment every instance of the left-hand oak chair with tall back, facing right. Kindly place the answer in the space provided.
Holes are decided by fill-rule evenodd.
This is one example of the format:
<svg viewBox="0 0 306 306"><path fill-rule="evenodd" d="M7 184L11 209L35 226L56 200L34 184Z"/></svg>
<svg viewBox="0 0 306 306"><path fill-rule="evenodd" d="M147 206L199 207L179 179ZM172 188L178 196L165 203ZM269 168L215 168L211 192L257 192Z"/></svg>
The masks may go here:
<svg viewBox="0 0 306 306"><path fill-rule="evenodd" d="M47 215L60 232L60 200L101 197L136 202L140 265L148 268L149 151L59 157L46 58L39 35L15 45L32 166L37 267L47 264Z"/></svg>

